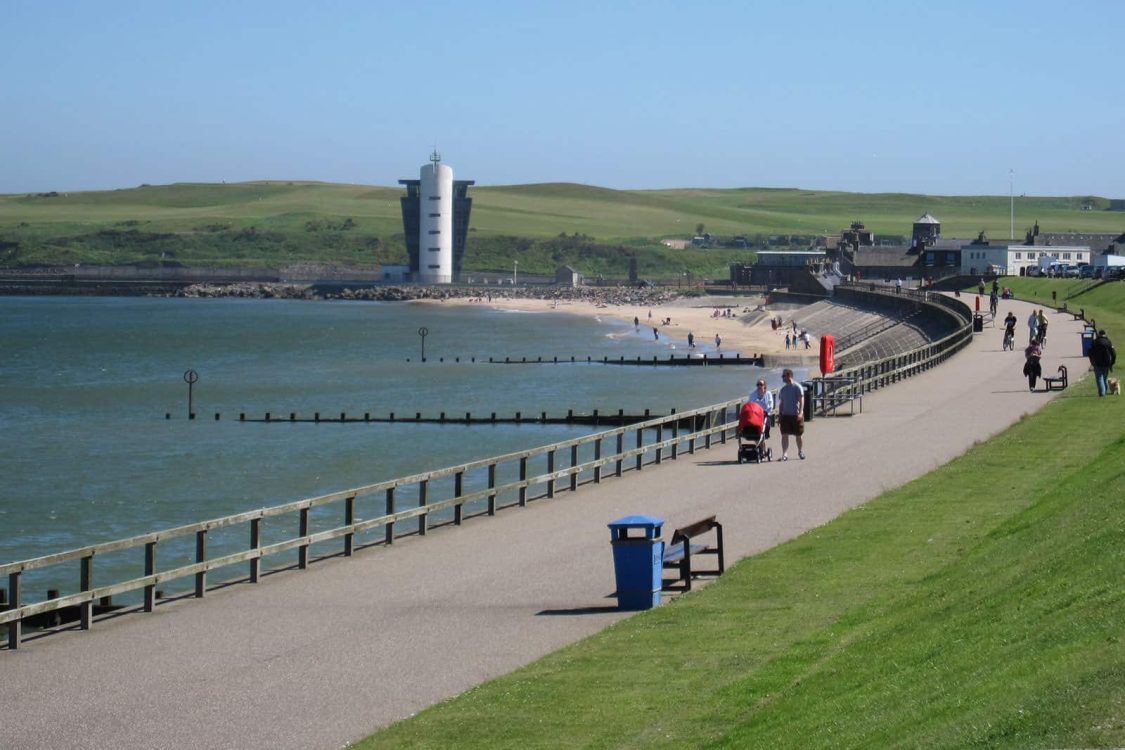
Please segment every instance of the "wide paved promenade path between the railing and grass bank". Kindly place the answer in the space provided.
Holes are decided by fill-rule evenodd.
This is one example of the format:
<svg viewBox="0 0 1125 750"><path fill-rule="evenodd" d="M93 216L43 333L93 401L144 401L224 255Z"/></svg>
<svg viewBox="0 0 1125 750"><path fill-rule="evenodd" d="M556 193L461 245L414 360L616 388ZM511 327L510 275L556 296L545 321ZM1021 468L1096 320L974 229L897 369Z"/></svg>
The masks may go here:
<svg viewBox="0 0 1125 750"><path fill-rule="evenodd" d="M1019 318L1032 305L1000 305ZM1080 323L1048 313L1044 372L1087 371ZM208 591L0 651L0 747L339 748L623 615L605 524L718 514L728 560L942 466L1051 395L1000 328L940 367L818 418L808 460L738 464L734 442L352 559ZM1086 386L1087 383L1083 383ZM752 383L747 382L747 389ZM1073 387L1073 386L1072 386ZM1092 388L1092 386L1090 386ZM780 435L771 439L780 455ZM982 477L982 482L987 478Z"/></svg>

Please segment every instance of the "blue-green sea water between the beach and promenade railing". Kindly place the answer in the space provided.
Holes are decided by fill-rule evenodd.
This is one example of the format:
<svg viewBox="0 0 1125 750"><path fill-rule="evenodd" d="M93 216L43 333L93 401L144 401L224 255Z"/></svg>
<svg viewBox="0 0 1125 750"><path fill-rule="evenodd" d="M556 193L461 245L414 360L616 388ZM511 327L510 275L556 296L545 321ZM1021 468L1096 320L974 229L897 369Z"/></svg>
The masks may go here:
<svg viewBox="0 0 1125 750"><path fill-rule="evenodd" d="M422 328L428 332L425 362ZM267 412L281 419L291 412L300 417L316 412L325 417L341 412L350 417L565 415L568 409L638 414L646 408L667 414L737 398L758 374L741 367L585 363L586 356L595 362L603 356L666 359L682 353L680 345L675 350L667 337L654 340L651 328L610 318L486 305L0 298L0 562L592 430L267 424L240 422L240 413L248 419ZM578 362L569 363L572 356ZM489 364L488 358L544 362ZM560 363L550 363L554 358ZM183 376L189 369L199 377L191 389L195 421L187 418ZM238 544L245 549L244 540ZM98 561L102 584L112 578L106 564ZM66 591L76 581L54 585ZM29 580L29 591L33 586L38 584Z"/></svg>

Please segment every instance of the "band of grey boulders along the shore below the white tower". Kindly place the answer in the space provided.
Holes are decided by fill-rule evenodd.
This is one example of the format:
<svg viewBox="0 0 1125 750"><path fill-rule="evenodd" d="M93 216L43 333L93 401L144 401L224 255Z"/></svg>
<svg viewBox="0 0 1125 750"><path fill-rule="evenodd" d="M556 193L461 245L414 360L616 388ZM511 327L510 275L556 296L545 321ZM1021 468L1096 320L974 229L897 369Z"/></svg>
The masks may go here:
<svg viewBox="0 0 1125 750"><path fill-rule="evenodd" d="M362 287L326 289L318 284L242 282L210 284L197 283L179 289L170 297L243 297L252 299L350 299L369 301L411 301L443 299L548 299L580 301L594 305L656 306L680 296L658 289L630 287L519 287L496 289L487 287Z"/></svg>

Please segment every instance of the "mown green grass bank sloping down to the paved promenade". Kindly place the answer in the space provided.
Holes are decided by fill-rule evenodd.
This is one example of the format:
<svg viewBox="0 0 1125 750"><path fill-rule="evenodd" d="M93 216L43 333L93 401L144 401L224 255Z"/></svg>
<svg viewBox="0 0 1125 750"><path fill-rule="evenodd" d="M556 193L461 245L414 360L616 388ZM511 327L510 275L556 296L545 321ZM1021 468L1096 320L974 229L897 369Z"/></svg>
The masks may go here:
<svg viewBox="0 0 1125 750"><path fill-rule="evenodd" d="M1125 334L1125 287L1074 300ZM712 586L361 747L1122 747L1122 408L1086 380Z"/></svg>

